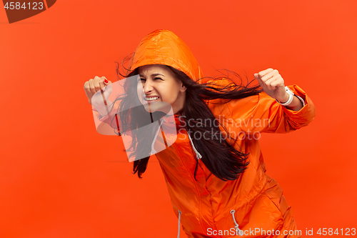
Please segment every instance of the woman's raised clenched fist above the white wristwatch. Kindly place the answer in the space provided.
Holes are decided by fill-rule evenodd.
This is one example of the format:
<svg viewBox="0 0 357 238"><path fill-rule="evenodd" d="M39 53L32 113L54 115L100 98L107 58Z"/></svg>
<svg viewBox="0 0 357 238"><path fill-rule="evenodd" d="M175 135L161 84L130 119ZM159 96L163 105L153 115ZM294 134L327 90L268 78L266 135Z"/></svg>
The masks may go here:
<svg viewBox="0 0 357 238"><path fill-rule="evenodd" d="M285 91L284 80L276 69L266 69L254 74L254 78L258 80L266 94L278 101L286 102L289 99L288 93Z"/></svg>

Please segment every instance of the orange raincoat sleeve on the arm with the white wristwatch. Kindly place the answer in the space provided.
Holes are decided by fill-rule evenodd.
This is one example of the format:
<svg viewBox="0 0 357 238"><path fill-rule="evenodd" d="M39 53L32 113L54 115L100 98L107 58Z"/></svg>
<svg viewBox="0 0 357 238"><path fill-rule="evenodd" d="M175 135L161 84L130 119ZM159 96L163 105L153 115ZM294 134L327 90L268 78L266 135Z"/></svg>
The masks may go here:
<svg viewBox="0 0 357 238"><path fill-rule="evenodd" d="M296 84L288 86L305 102L299 111L278 104L264 91L244 99L233 99L226 104L208 104L213 114L227 129L246 133L287 133L306 127L315 117L315 106L305 91Z"/></svg>

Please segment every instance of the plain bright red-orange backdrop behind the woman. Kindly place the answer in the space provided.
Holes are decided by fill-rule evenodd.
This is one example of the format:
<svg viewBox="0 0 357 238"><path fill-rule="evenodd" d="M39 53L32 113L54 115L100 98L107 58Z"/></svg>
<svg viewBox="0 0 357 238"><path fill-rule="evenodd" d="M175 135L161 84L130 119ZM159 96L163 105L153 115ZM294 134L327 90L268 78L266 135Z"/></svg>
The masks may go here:
<svg viewBox="0 0 357 238"><path fill-rule="evenodd" d="M253 79L271 67L301 86L316 118L262 134L267 173L303 234L357 228L356 9L354 0L57 1L14 24L0 10L0 237L176 237L156 158L144 179L131 174L121 139L96 132L83 89L94 76L116 81L114 61L155 29L183 39L205 76L226 68Z"/></svg>

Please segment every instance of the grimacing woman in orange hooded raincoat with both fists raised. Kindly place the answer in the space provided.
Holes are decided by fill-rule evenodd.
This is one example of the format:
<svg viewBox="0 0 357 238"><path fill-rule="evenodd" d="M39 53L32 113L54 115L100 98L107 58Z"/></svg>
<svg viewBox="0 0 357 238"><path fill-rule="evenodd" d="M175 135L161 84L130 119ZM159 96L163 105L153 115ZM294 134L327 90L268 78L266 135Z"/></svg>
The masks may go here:
<svg viewBox="0 0 357 238"><path fill-rule="evenodd" d="M144 98L126 81L126 94L116 100L120 105L107 101L109 111L94 106L97 125L120 126L120 135L143 126L139 118L145 111L151 113L151 122L159 122L147 137L133 135L134 174L141 177L156 152L178 217L178 237L180 222L188 237L301 236L281 187L265 173L258 138L261 132L307 126L315 107L305 91L296 84L285 87L273 69L254 74L261 87L203 78L188 46L168 30L153 31L140 42L125 76L140 80ZM86 81L89 102L99 89L110 93L110 86L105 77ZM135 100L142 105L135 106ZM169 127L166 116L171 113L162 105L155 108L154 102L171 105L177 134L158 133ZM176 140L158 152L154 143L159 137L161 144L166 138ZM139 146L148 138L151 148Z"/></svg>

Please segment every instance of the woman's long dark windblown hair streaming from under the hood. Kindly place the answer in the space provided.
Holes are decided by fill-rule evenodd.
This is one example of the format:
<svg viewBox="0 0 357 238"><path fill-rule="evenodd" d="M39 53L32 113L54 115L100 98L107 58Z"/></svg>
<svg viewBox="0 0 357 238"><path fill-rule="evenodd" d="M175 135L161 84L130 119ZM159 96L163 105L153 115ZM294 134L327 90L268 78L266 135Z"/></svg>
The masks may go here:
<svg viewBox="0 0 357 238"><path fill-rule="evenodd" d="M124 61L126 61L126 58L124 58L122 61L121 66L126 69L124 66ZM217 120L215 120L216 117L213 115L211 109L209 109L208 105L206 104L206 100L223 99L223 103L227 103L232 99L243 99L247 96L256 95L263 91L263 89L261 89L260 85L248 87L251 82L249 82L247 85L243 85L241 82L241 85L238 85L228 76L224 76L224 79L230 80L231 83L226 86L219 86L215 83L214 79L221 79L221 77L204 77L213 79L213 81L198 84L198 79L194 81L185 73L183 73L183 71L175 69L171 66L167 67L174 73L176 79L181 80L183 85L186 86L185 105L181 111L180 120L181 122L186 122L185 125L187 133L190 134L190 136L196 132L200 134L205 133L205 135L210 138L198 140L191 136L194 146L202 155L201 159L203 164L206 165L212 174L223 181L238 179L239 175L244 172L249 164L249 154L244 154L241 149L241 151L238 151L233 147L232 141L234 142L234 140L231 141L231 137L223 124L220 124L219 122L218 124L203 123L206 122L207 119L208 122L217 122ZM226 71L231 72L231 74L238 76L238 78L241 79L241 76L235 72L229 70ZM124 75L120 73L119 63L116 62L116 73L118 77L120 75L127 78L138 74L138 68L134 69L134 71L132 71L130 74ZM124 88L128 90L126 94L117 98L121 99L121 109L129 106L129 104L132 104L133 100L136 100L133 95L137 95L136 91L134 91L134 88L136 89L136 87L130 87L129 83L126 86L124 85ZM137 120L137 118L140 117L139 115L145 113L147 112L144 109L144 106L142 106L142 108L136 106L136 109L131 110L129 113L126 111L126 114L124 114L123 111L119 112L121 124L123 125L124 130L140 127L140 122ZM152 116L154 120L158 120L164 116L164 113L156 111L152 113ZM190 120L189 123L188 120ZM226 131L224 135L221 133L219 126L221 126ZM151 132L148 133L148 137L153 139L154 131L151 130ZM215 136L213 136L213 134ZM146 137L145 140L147 140L148 137ZM133 174L138 173L139 178L141 178L141 175L146 171L146 167L150 159L150 148L139 147L139 144L144 144L144 142L141 143L141 140L143 139L144 138L138 138L136 135L134 135L133 142L131 144L131 151L133 152L133 156L141 154L141 157L144 158L134 161ZM138 146L135 148L136 142ZM143 154L149 156L143 156ZM194 172L195 179L197 166L198 161L196 159L196 169Z"/></svg>

